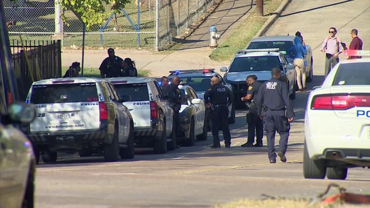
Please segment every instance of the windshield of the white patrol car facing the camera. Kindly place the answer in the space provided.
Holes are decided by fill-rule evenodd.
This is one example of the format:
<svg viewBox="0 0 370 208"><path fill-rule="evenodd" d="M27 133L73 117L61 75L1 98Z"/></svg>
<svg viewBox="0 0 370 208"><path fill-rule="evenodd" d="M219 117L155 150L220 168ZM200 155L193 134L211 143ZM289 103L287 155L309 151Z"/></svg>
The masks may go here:
<svg viewBox="0 0 370 208"><path fill-rule="evenodd" d="M228 72L270 71L274 67L281 68L278 56L238 57L234 59Z"/></svg>

